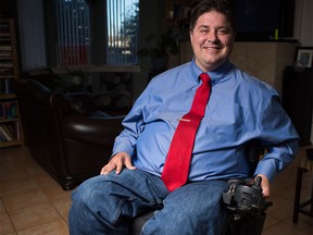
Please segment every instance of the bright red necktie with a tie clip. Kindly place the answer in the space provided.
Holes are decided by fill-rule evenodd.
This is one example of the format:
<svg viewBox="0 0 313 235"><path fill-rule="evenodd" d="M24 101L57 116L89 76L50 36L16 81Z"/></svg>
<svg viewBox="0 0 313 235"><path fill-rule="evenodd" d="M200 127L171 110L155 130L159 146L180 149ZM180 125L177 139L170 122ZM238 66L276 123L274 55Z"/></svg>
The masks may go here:
<svg viewBox="0 0 313 235"><path fill-rule="evenodd" d="M170 191L187 182L189 164L199 124L204 115L211 92L211 78L200 75L202 85L197 89L190 111L178 123L164 164L162 180Z"/></svg>

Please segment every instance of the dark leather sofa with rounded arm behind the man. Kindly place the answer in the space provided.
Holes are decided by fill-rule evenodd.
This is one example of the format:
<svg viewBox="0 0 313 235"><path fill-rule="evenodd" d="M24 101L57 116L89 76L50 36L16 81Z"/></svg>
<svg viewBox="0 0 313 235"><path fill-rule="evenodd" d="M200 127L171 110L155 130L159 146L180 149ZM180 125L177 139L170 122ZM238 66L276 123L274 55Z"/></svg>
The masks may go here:
<svg viewBox="0 0 313 235"><path fill-rule="evenodd" d="M62 188L73 189L99 174L122 131L124 115L99 111L88 92L66 95L38 79L18 79L13 88L25 144Z"/></svg>

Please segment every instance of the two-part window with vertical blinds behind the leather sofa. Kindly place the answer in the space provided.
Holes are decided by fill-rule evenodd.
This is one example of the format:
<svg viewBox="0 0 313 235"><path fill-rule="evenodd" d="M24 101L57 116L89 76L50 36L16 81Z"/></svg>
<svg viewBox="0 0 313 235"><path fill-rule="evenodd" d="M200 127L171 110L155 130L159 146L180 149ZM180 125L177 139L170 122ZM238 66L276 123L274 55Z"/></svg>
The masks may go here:
<svg viewBox="0 0 313 235"><path fill-rule="evenodd" d="M58 66L92 64L91 38L96 36L90 33L89 5L85 0L55 0L55 7ZM139 0L107 0L102 15L107 15L107 47L101 54L107 63L137 64Z"/></svg>

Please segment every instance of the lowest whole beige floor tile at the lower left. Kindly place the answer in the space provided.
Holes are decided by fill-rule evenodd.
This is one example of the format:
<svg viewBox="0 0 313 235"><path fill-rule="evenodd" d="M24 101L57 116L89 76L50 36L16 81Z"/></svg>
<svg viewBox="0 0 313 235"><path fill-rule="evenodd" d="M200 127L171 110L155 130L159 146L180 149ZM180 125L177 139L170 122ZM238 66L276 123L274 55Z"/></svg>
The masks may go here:
<svg viewBox="0 0 313 235"><path fill-rule="evenodd" d="M51 203L16 210L11 212L10 217L16 230L25 230L60 219L60 214Z"/></svg>

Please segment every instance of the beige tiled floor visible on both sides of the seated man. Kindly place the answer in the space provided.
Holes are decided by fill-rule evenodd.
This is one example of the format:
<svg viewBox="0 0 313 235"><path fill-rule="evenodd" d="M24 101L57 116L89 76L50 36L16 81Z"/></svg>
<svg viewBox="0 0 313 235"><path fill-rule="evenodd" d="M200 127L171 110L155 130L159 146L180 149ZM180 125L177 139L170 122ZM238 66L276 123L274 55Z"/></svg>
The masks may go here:
<svg viewBox="0 0 313 235"><path fill-rule="evenodd" d="M274 206L267 210L264 235L312 234L312 218L300 214L297 225L291 221L296 171L304 150L272 185ZM308 173L303 178L306 197L311 185L312 173ZM0 149L0 235L68 234L70 196L32 159L27 148Z"/></svg>

